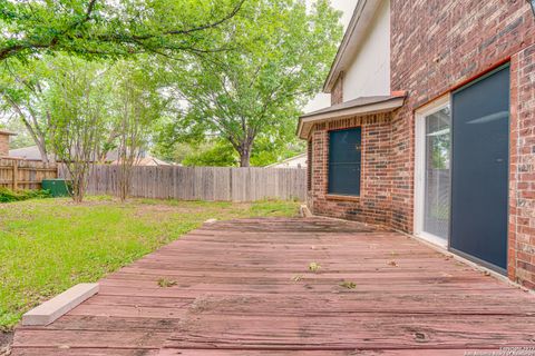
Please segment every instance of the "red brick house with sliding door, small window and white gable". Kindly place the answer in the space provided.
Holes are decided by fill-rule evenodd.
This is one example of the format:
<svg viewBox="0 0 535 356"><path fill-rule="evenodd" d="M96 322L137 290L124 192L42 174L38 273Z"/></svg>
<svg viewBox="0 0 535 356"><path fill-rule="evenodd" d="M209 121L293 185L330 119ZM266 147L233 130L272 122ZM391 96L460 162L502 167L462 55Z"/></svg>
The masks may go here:
<svg viewBox="0 0 535 356"><path fill-rule="evenodd" d="M313 214L379 224L535 288L535 17L521 0L359 0L300 118Z"/></svg>

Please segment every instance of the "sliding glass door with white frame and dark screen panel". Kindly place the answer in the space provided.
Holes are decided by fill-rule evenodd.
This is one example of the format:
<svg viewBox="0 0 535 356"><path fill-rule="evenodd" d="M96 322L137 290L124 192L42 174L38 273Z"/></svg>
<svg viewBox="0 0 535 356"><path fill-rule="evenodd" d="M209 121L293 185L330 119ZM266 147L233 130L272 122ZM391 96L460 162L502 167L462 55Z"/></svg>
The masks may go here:
<svg viewBox="0 0 535 356"><path fill-rule="evenodd" d="M415 234L503 274L509 81L507 65L416 115Z"/></svg>

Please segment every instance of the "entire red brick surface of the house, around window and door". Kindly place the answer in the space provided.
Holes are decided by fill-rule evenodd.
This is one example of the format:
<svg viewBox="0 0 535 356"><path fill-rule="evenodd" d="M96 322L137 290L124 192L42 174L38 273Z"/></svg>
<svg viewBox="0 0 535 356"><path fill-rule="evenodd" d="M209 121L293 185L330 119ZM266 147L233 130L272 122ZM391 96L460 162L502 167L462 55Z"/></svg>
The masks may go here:
<svg viewBox="0 0 535 356"><path fill-rule="evenodd" d="M412 231L415 110L510 61L508 276L535 288L535 18L522 0L391 0L391 89L406 106L387 117L312 130L315 214ZM343 101L342 78L332 103ZM361 122L362 121L362 122ZM362 196L329 198L328 130L362 123Z"/></svg>

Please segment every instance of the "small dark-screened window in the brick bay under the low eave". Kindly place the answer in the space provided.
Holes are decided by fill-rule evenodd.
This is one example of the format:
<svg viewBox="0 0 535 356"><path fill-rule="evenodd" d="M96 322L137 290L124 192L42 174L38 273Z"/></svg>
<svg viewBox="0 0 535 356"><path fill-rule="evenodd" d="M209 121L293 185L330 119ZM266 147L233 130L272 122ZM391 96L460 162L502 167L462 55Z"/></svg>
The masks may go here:
<svg viewBox="0 0 535 356"><path fill-rule="evenodd" d="M329 194L360 196L362 130L329 132Z"/></svg>

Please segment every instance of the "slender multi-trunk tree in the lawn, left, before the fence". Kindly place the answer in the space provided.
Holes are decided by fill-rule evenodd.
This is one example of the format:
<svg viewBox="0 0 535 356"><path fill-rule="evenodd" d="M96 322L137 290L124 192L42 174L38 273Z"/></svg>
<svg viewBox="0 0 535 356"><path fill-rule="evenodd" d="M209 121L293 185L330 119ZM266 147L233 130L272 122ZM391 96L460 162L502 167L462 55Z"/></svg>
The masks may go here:
<svg viewBox="0 0 535 356"><path fill-rule="evenodd" d="M106 68L99 63L60 57L52 69L47 91L50 144L67 169L72 199L81 202L106 135L111 87Z"/></svg>

